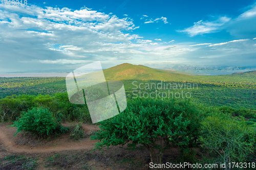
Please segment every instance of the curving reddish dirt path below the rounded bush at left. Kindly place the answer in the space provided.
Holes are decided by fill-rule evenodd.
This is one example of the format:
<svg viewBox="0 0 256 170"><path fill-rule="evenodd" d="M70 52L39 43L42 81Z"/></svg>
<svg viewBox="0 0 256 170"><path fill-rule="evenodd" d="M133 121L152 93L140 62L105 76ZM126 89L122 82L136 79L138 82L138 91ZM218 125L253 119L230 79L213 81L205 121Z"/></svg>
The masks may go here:
<svg viewBox="0 0 256 170"><path fill-rule="evenodd" d="M75 141L69 138L69 134L61 135L57 138L38 141L35 138L27 137L22 134L17 134L15 127L6 127L11 124L0 124L0 142L3 143L7 151L16 153L44 153L56 151L70 151L70 150L91 150L97 140L91 140L89 137L90 132L99 130L95 125L82 125L87 138L82 141ZM67 126L67 124L63 125Z"/></svg>

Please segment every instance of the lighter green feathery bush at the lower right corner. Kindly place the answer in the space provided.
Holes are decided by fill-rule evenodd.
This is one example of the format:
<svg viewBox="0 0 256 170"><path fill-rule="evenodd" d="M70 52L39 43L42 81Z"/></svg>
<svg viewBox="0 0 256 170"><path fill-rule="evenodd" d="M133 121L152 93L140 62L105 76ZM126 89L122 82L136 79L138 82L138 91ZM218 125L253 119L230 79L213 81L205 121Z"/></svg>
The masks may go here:
<svg viewBox="0 0 256 170"><path fill-rule="evenodd" d="M255 151L254 130L244 120L208 116L201 132L202 146L216 154L216 162L245 162Z"/></svg>

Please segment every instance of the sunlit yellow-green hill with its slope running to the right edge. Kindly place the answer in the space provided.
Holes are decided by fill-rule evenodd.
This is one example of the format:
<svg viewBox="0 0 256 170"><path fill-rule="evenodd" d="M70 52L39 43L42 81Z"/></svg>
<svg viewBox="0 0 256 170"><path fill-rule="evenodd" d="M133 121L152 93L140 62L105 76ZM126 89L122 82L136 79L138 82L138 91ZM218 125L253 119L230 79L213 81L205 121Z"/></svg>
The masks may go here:
<svg viewBox="0 0 256 170"><path fill-rule="evenodd" d="M154 69L143 65L120 64L103 70L106 80L158 80L206 84L237 84L256 88L256 71L221 76L191 76L177 71Z"/></svg>

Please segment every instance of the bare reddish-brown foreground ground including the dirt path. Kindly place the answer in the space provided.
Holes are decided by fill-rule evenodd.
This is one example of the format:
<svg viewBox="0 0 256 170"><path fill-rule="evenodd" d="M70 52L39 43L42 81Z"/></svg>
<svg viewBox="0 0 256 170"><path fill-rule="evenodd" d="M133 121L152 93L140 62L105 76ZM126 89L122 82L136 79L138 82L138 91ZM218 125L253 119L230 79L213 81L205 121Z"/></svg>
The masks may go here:
<svg viewBox="0 0 256 170"><path fill-rule="evenodd" d="M0 169L27 169L22 156L36 161L36 169L150 169L148 151L126 150L110 147L109 150L92 151L97 140L91 140L90 135L99 130L99 126L83 124L86 137L76 141L69 138L69 133L59 137L37 140L28 133L18 133L11 124L0 124ZM74 125L74 124L73 124ZM65 127L73 126L62 124ZM15 159L7 160L7 157ZM177 162L179 150L172 148L164 153L163 161ZM31 161L33 162L33 161ZM29 165L28 165L29 166Z"/></svg>

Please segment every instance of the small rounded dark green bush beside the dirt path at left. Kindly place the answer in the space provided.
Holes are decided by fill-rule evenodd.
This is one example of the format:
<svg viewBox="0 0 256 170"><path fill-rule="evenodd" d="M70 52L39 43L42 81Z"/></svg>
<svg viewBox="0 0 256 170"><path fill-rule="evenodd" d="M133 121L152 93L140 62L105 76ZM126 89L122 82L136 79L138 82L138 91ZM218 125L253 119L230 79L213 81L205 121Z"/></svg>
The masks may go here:
<svg viewBox="0 0 256 170"><path fill-rule="evenodd" d="M13 126L17 127L17 132L14 135L20 131L26 131L39 138L68 131L68 128L63 128L54 120L52 113L48 109L42 107L24 112L22 117L14 122Z"/></svg>

